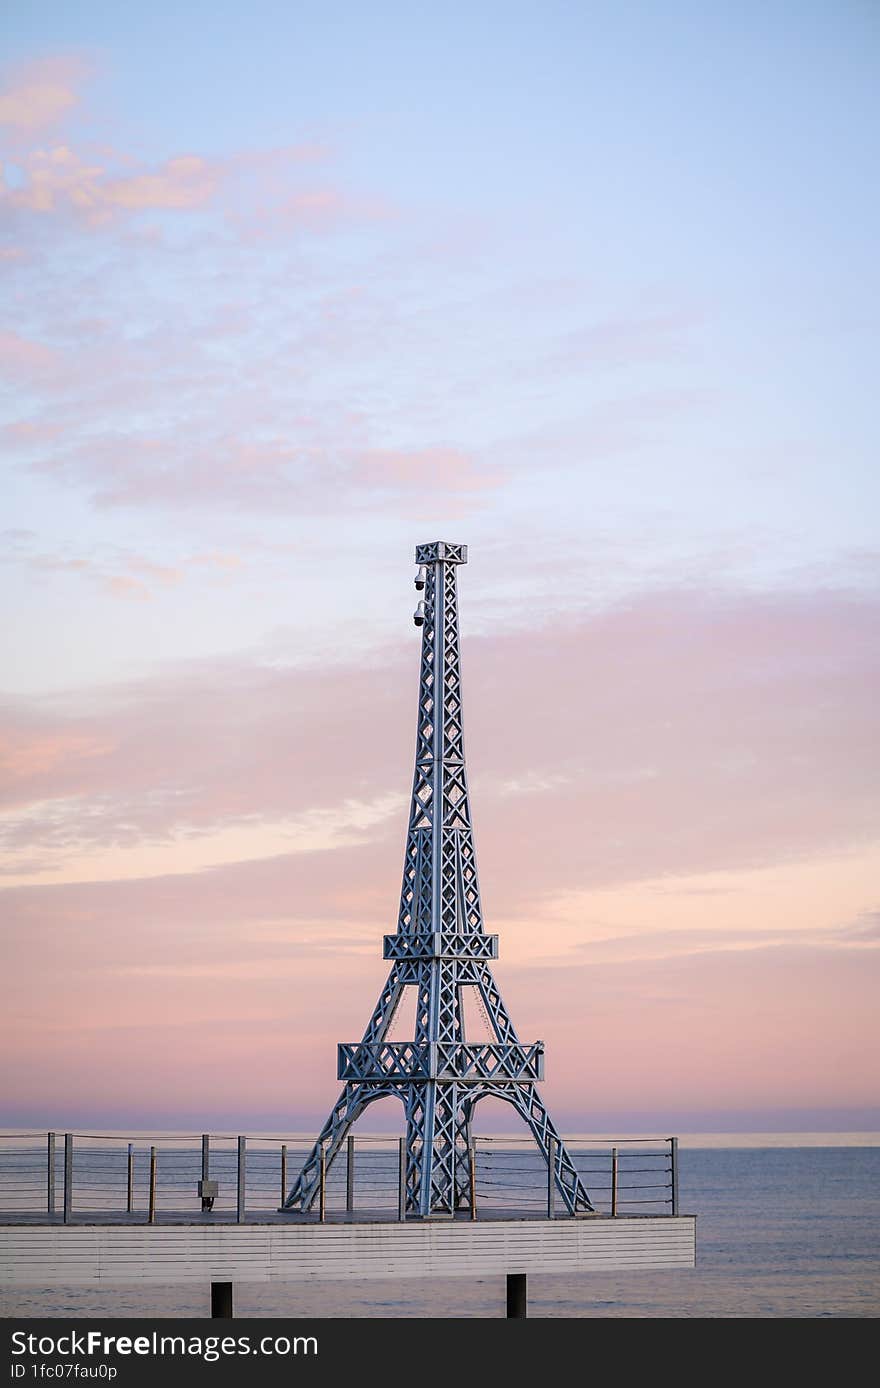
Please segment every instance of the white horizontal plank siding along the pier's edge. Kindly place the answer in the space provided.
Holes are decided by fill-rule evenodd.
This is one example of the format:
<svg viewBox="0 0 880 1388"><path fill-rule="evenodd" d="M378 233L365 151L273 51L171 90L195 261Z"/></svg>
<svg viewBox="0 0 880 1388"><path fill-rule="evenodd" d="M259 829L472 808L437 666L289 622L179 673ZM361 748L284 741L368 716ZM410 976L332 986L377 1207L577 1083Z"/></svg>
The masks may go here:
<svg viewBox="0 0 880 1388"><path fill-rule="evenodd" d="M476 1277L694 1267L694 1216L0 1227L0 1285Z"/></svg>

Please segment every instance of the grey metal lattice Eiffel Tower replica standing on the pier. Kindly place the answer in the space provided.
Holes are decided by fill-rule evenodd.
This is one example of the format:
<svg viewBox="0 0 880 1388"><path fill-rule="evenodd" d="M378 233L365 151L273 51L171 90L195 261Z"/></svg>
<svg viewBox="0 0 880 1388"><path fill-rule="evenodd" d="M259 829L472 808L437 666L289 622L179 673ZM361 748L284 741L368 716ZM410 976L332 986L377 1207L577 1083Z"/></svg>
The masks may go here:
<svg viewBox="0 0 880 1388"><path fill-rule="evenodd" d="M569 1214L594 1213L575 1163L554 1127L537 1081L544 1045L523 1042L493 979L498 937L483 930L471 799L465 769L455 573L468 547L437 540L415 551L415 611L422 627L415 777L397 933L384 937L387 983L364 1040L339 1047L344 1088L297 1176L283 1210L308 1210L351 1124L375 1099L404 1103L407 1217L468 1209L471 1120L487 1097L525 1119ZM404 988L418 990L415 1037L389 1041ZM475 988L494 1033L465 1037L465 988ZM548 1173L550 1176L550 1173Z"/></svg>

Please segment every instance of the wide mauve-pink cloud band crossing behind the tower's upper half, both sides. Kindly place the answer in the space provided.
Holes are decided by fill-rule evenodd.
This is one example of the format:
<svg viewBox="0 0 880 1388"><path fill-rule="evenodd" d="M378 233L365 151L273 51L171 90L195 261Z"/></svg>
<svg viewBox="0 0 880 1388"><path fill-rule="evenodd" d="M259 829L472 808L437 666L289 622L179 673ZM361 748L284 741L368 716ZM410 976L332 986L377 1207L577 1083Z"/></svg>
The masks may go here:
<svg viewBox="0 0 880 1388"><path fill-rule="evenodd" d="M468 640L466 733L493 909L870 838L877 616L874 601L833 593L675 594ZM11 738L103 747L6 788L22 812L10 847L155 841L403 793L414 698L415 652L401 648L354 668L192 666L104 693L93 715L44 705L22 723L10 706ZM24 813L53 799L65 802L57 813ZM400 837L384 824L371 833ZM530 851L514 884L519 843Z"/></svg>

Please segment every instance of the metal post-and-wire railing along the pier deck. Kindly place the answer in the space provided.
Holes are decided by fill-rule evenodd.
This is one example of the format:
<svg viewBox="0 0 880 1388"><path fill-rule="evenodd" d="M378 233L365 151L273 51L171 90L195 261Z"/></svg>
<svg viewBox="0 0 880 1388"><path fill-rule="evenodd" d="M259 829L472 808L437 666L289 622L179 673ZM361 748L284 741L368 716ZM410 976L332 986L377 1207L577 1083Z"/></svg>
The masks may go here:
<svg viewBox="0 0 880 1388"><path fill-rule="evenodd" d="M677 1138L565 1138L600 1214L677 1214ZM107 1133L0 1134L4 1216L69 1223L89 1216L154 1223L276 1212L308 1138ZM530 1137L475 1137L462 1148L462 1212L471 1219L565 1213L554 1165ZM357 1134L322 1165L318 1219L358 1212L404 1217L403 1140Z"/></svg>

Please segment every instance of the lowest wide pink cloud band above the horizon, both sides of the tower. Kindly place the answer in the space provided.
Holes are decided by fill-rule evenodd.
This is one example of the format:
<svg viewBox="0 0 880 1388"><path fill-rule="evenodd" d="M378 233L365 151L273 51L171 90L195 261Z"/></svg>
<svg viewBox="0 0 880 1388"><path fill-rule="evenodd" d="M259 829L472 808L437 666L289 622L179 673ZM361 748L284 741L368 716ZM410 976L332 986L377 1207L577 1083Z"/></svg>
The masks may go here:
<svg viewBox="0 0 880 1388"><path fill-rule="evenodd" d="M6 892L6 1102L47 1119L96 1091L118 1112L132 1088L143 1115L189 1105L192 1119L230 1102L242 1120L266 1105L298 1119L328 1106L336 1042L366 1020L393 920L371 899L366 920L353 902L336 923L336 863L321 858ZM350 859L346 881L375 880L369 849ZM310 926L319 879L326 913ZM540 917L530 927L545 930ZM505 959L504 933L501 945L496 976L521 1034L547 1044L544 1094L569 1130L627 1108L876 1102L876 948L722 938L669 959L536 967ZM311 1063L291 1088L290 1056L304 1049ZM584 1056L602 1058L586 1085Z"/></svg>

